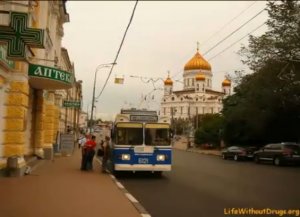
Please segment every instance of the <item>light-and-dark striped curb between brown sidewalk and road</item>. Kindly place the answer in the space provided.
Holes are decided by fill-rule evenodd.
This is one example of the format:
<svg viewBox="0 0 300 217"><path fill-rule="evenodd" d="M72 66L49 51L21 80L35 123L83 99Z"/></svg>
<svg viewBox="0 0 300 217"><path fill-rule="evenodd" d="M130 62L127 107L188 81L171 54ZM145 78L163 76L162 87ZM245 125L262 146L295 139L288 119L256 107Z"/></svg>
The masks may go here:
<svg viewBox="0 0 300 217"><path fill-rule="evenodd" d="M100 165L102 165L102 162L99 158L96 158L96 161ZM142 217L151 217L151 215L146 211L146 209L142 206L142 204L140 204L140 202L137 199L135 199L135 197L132 196L132 194L130 194L129 191L126 190L126 188L116 179L116 177L114 175L112 175L110 172L108 172L108 173L109 173L109 176L111 177L111 179L117 185L117 187L123 192L125 197L127 197L127 199L137 209L137 211L141 214L141 216Z"/></svg>

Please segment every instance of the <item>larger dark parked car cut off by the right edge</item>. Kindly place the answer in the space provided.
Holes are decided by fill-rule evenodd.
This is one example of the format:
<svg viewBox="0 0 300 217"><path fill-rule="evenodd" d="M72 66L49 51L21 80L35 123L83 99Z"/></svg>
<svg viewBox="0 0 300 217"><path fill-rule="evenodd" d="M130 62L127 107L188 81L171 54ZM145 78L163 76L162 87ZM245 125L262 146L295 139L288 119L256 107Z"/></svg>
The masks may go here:
<svg viewBox="0 0 300 217"><path fill-rule="evenodd" d="M287 163L300 164L300 145L296 143L268 144L254 153L254 161L272 162L276 166Z"/></svg>

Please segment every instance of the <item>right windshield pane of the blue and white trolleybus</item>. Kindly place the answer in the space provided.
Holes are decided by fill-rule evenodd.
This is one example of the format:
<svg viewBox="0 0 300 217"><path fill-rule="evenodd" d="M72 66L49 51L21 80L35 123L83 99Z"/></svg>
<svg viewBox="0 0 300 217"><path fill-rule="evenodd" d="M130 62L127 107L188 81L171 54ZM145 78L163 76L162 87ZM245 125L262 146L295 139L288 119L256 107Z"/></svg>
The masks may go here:
<svg viewBox="0 0 300 217"><path fill-rule="evenodd" d="M168 124L146 124L145 126L145 144L151 146L169 146Z"/></svg>

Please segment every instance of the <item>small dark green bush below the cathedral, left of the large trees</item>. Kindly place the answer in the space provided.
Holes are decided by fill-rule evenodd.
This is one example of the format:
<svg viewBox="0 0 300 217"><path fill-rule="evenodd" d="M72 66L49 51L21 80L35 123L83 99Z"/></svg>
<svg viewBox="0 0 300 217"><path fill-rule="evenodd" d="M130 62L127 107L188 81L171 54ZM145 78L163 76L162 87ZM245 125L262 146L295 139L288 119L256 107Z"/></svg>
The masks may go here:
<svg viewBox="0 0 300 217"><path fill-rule="evenodd" d="M205 114L195 132L195 143L219 146L223 129L223 117L220 114Z"/></svg>

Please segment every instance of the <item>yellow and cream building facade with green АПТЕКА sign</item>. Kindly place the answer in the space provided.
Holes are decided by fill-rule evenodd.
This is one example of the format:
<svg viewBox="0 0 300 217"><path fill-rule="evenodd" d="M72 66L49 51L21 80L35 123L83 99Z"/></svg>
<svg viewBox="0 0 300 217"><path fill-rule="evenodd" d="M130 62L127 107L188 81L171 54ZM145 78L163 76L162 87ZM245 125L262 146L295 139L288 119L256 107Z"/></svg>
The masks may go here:
<svg viewBox="0 0 300 217"><path fill-rule="evenodd" d="M81 82L61 45L69 22L65 1L1 1L0 11L0 171L13 156L22 174L27 157L49 158L59 134L76 131L80 108L63 101L81 100ZM33 46L36 38L22 37L18 28L36 35L41 29L41 44ZM7 29L20 33L19 53L1 37L10 37Z"/></svg>

